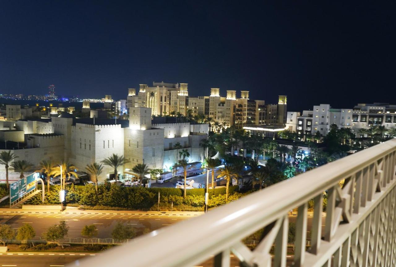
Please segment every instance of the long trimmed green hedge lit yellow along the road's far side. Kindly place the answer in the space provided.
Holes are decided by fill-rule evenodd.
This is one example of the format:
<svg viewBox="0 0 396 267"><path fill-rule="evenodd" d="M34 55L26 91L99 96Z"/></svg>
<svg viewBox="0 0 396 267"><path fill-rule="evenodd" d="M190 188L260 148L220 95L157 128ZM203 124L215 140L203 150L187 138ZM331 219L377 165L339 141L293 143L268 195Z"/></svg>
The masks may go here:
<svg viewBox="0 0 396 267"><path fill-rule="evenodd" d="M46 204L59 204L59 186L51 186L49 193L46 191ZM229 201L233 201L244 194L237 193L238 186L230 186ZM177 210L202 210L205 205L205 189L188 189L186 199L183 198L183 189L180 188L145 188L145 187L120 187L106 183L95 186L68 186L66 200L68 204L78 204L89 207L114 207L127 210L156 210L160 192L160 204L168 208L171 203ZM209 189L209 207L225 204L225 188L214 191ZM41 205L41 194L29 199L26 204Z"/></svg>

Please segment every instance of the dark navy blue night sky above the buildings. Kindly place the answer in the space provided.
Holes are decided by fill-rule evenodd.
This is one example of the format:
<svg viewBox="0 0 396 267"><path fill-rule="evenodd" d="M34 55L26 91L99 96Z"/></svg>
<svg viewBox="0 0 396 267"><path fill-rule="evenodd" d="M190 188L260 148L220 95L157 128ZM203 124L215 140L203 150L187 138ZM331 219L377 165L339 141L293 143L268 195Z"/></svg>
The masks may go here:
<svg viewBox="0 0 396 267"><path fill-rule="evenodd" d="M396 104L396 2L262 2L0 0L0 93L119 99L165 81L287 95L289 111Z"/></svg>

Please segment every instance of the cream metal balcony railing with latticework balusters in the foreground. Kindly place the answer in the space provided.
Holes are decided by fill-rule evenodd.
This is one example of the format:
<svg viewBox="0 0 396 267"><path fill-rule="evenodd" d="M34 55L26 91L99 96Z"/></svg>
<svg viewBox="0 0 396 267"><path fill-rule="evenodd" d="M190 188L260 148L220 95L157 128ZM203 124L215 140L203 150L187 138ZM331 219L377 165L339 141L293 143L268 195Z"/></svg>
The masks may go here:
<svg viewBox="0 0 396 267"><path fill-rule="evenodd" d="M136 242L79 261L79 266L194 266L215 255L215 266L228 267L232 252L243 262L239 266L283 267L287 255L287 214L293 208L298 209L294 266L394 266L395 163L396 139L392 139L203 216L153 231ZM324 191L327 206L323 223ZM312 199L311 242L306 251L307 208ZM241 240L263 227L265 237L250 250Z"/></svg>

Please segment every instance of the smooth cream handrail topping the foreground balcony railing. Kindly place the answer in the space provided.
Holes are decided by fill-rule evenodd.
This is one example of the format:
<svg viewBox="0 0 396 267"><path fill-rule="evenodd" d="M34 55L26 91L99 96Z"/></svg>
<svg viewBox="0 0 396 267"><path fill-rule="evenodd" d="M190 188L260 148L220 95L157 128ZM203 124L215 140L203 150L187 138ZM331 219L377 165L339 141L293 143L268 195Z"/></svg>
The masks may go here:
<svg viewBox="0 0 396 267"><path fill-rule="evenodd" d="M80 261L79 266L198 264L395 150L396 139L378 144L215 208L203 216L153 231L137 242Z"/></svg>

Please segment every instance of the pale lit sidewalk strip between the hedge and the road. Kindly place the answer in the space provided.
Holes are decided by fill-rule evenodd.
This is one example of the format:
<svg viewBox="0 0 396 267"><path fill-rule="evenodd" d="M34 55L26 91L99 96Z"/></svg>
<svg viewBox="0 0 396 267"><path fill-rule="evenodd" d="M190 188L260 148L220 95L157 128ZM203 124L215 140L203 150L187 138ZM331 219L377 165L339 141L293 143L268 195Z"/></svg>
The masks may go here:
<svg viewBox="0 0 396 267"><path fill-rule="evenodd" d="M40 207L40 208L36 208ZM179 216L200 216L203 211L142 211L142 210L79 210L74 207L61 211L58 206L29 206L29 208L0 208L0 212L16 213L60 213L60 214L126 214L126 215L179 215ZM56 207L56 208L51 208Z"/></svg>

